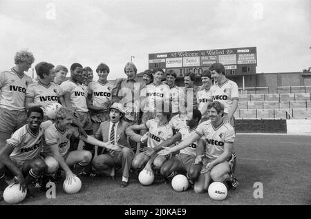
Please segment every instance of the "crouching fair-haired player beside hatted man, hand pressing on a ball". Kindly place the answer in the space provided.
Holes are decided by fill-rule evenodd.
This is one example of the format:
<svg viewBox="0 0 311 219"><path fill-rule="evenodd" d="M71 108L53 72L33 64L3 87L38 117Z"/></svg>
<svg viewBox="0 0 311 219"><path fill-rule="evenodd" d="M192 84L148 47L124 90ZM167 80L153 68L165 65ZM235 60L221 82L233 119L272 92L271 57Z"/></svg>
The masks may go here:
<svg viewBox="0 0 311 219"><path fill-rule="evenodd" d="M45 145L43 147L44 161L47 170L42 179L41 189L46 188L46 183L50 180L50 176L55 174L59 166L65 171L66 180L71 184L75 174L70 167L75 166L75 172L79 174L84 167L92 160L91 152L86 150L70 151L70 136L73 135L73 113L74 111L68 107L61 107L55 114L55 123L50 125L44 134ZM91 136L82 140L92 145L100 147L108 147L105 143L96 140Z"/></svg>

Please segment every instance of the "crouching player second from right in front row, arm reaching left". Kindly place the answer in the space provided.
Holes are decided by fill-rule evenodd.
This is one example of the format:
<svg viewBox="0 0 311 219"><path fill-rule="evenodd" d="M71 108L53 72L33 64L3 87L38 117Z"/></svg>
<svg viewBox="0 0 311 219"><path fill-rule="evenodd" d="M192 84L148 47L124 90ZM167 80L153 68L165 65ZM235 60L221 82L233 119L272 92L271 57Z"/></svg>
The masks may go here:
<svg viewBox="0 0 311 219"><path fill-rule="evenodd" d="M160 151L162 147L167 147L173 145L173 143L176 143L179 140L187 139L191 133L196 132L196 127L198 127L201 117L201 112L198 109L189 112L186 118L187 125L181 127L179 132L175 134L173 138L165 140L152 150ZM177 172L186 171L189 182L193 184L193 182L200 176L202 167L201 165L194 165L194 161L196 160L197 155L204 154L204 147L201 147L200 151L198 151L197 146L198 141L195 141L188 145L188 147L181 149L179 154L176 154L173 158L165 161L161 167L161 175L164 176L164 178L172 178Z"/></svg>

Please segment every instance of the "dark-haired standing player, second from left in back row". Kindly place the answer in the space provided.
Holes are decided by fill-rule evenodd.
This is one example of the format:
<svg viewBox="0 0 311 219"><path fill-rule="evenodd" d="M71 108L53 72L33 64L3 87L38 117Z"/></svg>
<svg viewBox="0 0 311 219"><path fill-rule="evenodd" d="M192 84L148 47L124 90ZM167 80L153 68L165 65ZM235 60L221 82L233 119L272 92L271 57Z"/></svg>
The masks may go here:
<svg viewBox="0 0 311 219"><path fill-rule="evenodd" d="M37 67L39 79L37 82L28 85L26 92L26 109L39 106L46 116L46 106L59 101L59 85L52 83L55 78L54 65L42 62Z"/></svg>

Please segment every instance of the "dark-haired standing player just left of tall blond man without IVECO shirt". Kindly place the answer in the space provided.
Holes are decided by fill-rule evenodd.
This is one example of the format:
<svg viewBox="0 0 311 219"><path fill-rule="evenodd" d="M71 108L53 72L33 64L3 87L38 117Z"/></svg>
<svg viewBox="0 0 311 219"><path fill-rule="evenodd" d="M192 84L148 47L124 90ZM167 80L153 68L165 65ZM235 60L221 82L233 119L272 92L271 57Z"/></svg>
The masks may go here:
<svg viewBox="0 0 311 219"><path fill-rule="evenodd" d="M100 123L109 120L109 107L112 101L113 83L107 81L110 72L108 65L100 63L96 72L98 81L88 84L88 109L91 110L93 132L97 132ZM93 100L93 105L91 104Z"/></svg>

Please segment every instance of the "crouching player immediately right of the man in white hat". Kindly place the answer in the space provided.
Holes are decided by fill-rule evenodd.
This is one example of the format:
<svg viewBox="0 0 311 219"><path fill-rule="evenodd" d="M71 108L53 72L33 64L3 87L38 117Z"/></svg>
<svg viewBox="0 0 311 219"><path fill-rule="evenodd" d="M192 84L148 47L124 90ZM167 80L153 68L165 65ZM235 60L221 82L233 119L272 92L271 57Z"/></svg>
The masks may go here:
<svg viewBox="0 0 311 219"><path fill-rule="evenodd" d="M147 149L155 148L160 145L164 140L167 140L173 136L173 130L171 125L169 125L169 118L171 117L170 112L157 112L156 118L151 119L146 123L140 125L132 125L128 127L126 130L126 134L135 142L144 142L144 138L147 137ZM144 136L140 136L139 134L133 134L131 131L148 129L149 132L144 134ZM129 134L131 133L131 134ZM141 152L135 156L132 162L133 169L142 169L144 165L149 162L147 165L148 169L151 171L151 164L153 163L154 168L160 170L162 164L169 158L169 156L158 156L158 154L147 154L145 152Z"/></svg>

